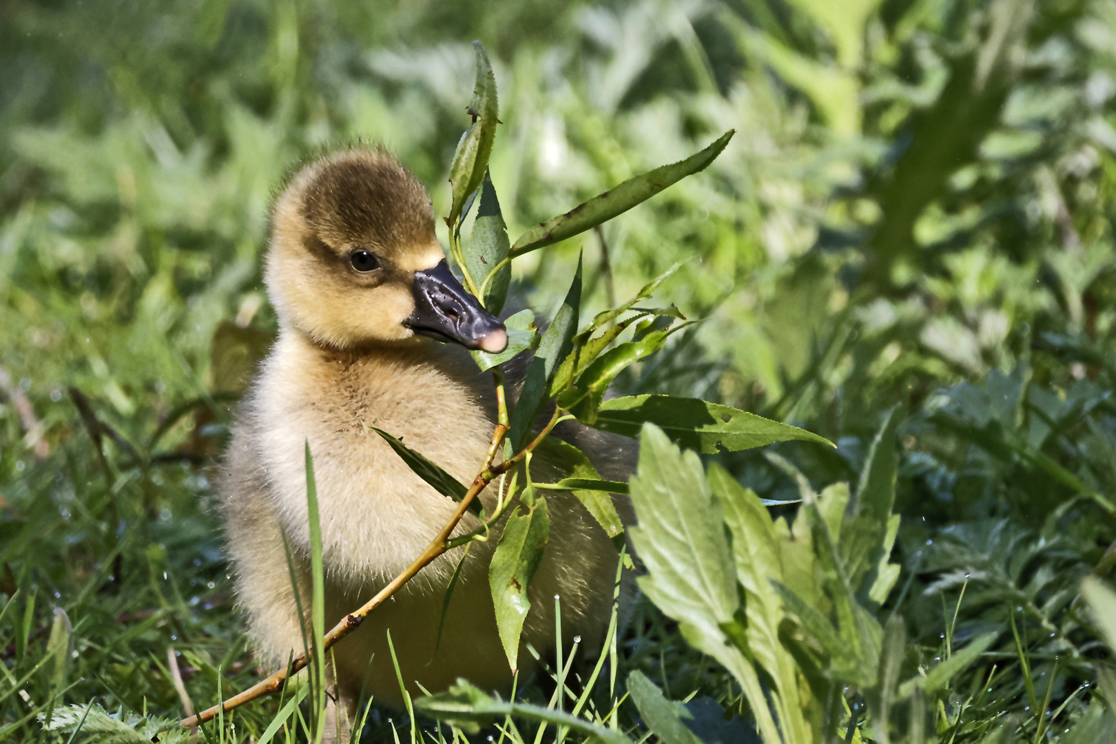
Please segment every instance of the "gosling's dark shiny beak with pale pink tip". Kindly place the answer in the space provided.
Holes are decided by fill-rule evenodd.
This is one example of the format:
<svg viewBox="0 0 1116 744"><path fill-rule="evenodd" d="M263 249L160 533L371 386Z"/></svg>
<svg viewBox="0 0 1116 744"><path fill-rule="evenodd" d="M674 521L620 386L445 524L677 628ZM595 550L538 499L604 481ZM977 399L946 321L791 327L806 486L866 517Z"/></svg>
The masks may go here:
<svg viewBox="0 0 1116 744"><path fill-rule="evenodd" d="M433 269L416 271L412 291L415 311L406 325L414 332L489 354L508 347L508 329L465 291L444 260Z"/></svg>

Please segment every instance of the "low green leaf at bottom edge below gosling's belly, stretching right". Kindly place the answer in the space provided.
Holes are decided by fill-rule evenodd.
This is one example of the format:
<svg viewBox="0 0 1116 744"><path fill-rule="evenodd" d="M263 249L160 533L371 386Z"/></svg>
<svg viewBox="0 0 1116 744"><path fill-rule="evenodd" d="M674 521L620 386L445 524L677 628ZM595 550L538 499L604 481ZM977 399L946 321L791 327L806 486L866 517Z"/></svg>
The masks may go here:
<svg viewBox="0 0 1116 744"><path fill-rule="evenodd" d="M587 741L593 744L632 744L631 740L619 732L594 725L580 716L526 703L506 703L481 692L464 679L459 679L449 692L420 697L415 700L415 707L433 718L455 725L471 734L478 733L481 726L491 725L507 716L516 716L565 726L581 736L587 736Z"/></svg>

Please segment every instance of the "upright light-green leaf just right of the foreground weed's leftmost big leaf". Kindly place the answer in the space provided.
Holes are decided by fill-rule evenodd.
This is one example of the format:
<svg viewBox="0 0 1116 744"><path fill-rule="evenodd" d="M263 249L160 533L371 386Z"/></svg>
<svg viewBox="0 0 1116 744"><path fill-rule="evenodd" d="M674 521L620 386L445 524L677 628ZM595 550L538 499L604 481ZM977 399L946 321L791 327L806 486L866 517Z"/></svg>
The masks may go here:
<svg viewBox="0 0 1116 744"><path fill-rule="evenodd" d="M737 580L744 591L748 651L775 683L772 693L788 741L810 741L810 725L799 697L798 665L779 638L785 616L772 582L783 582L783 570L771 514L752 490L741 486L720 465L710 467L709 481L732 534Z"/></svg>

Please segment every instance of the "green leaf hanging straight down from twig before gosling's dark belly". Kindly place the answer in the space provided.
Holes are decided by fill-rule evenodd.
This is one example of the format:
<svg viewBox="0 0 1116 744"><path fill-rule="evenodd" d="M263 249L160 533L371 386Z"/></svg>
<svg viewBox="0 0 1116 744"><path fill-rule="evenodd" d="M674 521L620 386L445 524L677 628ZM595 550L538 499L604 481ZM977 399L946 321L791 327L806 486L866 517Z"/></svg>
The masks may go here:
<svg viewBox="0 0 1116 744"><path fill-rule="evenodd" d="M528 491L531 489L528 487ZM508 518L500 542L492 553L489 587L492 590L500 642L503 644L503 653L508 656L512 671L519 668L519 636L523 630L527 612L531 609L527 588L542 561L549 534L547 500L538 499L530 509L517 508Z"/></svg>

